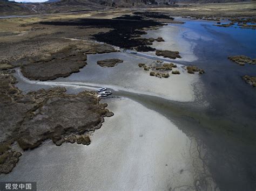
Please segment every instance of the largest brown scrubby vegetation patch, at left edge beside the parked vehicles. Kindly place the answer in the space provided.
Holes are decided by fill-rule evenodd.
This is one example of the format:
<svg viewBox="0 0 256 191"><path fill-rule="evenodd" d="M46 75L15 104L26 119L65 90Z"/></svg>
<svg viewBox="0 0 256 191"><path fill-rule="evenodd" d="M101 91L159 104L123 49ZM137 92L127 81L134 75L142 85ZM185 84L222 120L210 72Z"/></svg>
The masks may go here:
<svg viewBox="0 0 256 191"><path fill-rule="evenodd" d="M92 91L69 95L65 88L56 87L22 94L15 83L15 77L0 73L0 173L11 172L21 156L12 144L23 150L46 139L58 146L88 145L86 133L99 129L103 117L113 115Z"/></svg>

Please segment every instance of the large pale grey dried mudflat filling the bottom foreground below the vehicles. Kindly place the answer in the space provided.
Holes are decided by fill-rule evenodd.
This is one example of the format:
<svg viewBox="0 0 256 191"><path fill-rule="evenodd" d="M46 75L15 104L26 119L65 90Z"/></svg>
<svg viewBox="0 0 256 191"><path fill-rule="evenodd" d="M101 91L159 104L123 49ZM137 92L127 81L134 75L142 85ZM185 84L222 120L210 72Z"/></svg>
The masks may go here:
<svg viewBox="0 0 256 191"><path fill-rule="evenodd" d="M44 144L25 152L15 172L0 178L37 181L44 190L214 189L195 140L137 102L104 102L115 115L93 133L90 146Z"/></svg>

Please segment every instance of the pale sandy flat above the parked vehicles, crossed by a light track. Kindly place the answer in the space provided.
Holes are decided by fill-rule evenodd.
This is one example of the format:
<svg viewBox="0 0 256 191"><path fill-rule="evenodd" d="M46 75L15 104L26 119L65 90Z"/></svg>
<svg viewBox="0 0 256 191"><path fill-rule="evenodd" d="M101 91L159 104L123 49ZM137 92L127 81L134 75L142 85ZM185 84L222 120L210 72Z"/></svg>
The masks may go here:
<svg viewBox="0 0 256 191"><path fill-rule="evenodd" d="M103 68L97 65L98 60L104 59L122 59L123 63L111 68ZM107 87L116 91L123 90L136 94L145 94L166 98L167 100L188 102L194 100L192 83L199 81L198 74L188 74L178 65L180 75L159 78L150 76L150 71L145 71L138 67L138 63L152 63L152 59L142 58L137 55L114 52L105 54L95 54L87 56L87 65L80 69L79 73L74 73L69 77L59 78L54 81L30 81L25 79L20 72L16 77L17 87L24 90L24 87L31 88L27 84L50 85L50 86L69 86L79 88L81 86ZM24 83L24 84L23 84ZM91 89L89 89L91 90Z"/></svg>

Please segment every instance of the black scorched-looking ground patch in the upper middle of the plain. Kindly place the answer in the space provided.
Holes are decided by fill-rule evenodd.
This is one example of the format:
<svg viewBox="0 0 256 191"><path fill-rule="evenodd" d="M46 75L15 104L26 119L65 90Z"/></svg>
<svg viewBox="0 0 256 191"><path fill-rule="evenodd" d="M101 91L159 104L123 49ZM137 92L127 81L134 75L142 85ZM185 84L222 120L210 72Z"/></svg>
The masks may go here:
<svg viewBox="0 0 256 191"><path fill-rule="evenodd" d="M153 20L120 20L120 19L76 19L69 21L40 22L44 25L63 25L63 26L91 26L98 28L111 28L113 30L105 33L98 33L92 36L93 39L120 48L134 48L145 46L146 43L139 37L145 34L143 28L152 26L163 26L160 22Z"/></svg>

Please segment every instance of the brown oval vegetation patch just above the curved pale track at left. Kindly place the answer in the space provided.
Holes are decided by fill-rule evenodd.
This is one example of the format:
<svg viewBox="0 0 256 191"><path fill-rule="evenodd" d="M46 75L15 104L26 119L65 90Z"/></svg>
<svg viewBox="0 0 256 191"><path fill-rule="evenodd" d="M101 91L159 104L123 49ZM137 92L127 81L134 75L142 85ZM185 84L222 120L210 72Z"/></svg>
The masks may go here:
<svg viewBox="0 0 256 191"><path fill-rule="evenodd" d="M109 52L114 52L114 48L105 44L71 44L57 52L27 57L18 62L22 63L21 72L25 77L45 81L79 72L86 65L86 54Z"/></svg>

